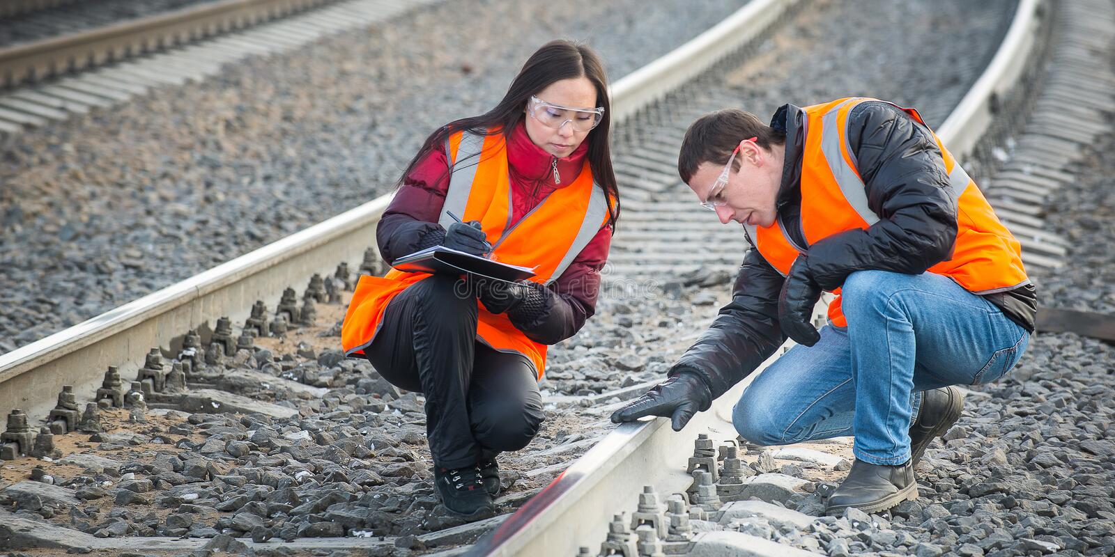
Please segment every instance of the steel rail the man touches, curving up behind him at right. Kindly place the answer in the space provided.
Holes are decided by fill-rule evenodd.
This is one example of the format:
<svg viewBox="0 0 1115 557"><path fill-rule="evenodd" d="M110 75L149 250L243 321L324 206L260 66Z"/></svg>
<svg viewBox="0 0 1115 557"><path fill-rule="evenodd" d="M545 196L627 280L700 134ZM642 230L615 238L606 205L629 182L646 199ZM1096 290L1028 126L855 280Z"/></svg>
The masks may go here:
<svg viewBox="0 0 1115 557"><path fill-rule="evenodd" d="M1017 85L1022 66L1035 46L1043 0L1021 0L1010 28L996 56L971 90L942 126L941 139L953 153L953 141L971 152L993 117L996 95ZM696 40L696 39L695 39ZM958 158L963 155L957 154ZM823 315L822 301L817 314ZM785 352L793 341L787 341ZM598 547L607 535L607 524L618 506L633 507L643 485L656 486L660 494L683 491L691 481L685 470L692 451L694 436L709 433L715 440L736 437L731 427L731 407L743 389L774 359L764 362L733 390L714 401L707 412L698 413L678 433L668 419L624 423L615 428L537 496L508 517L498 528L481 538L467 555L576 555L580 546ZM727 431L725 431L727 430ZM620 494L627 494L623 500ZM575 535L574 535L575 534Z"/></svg>

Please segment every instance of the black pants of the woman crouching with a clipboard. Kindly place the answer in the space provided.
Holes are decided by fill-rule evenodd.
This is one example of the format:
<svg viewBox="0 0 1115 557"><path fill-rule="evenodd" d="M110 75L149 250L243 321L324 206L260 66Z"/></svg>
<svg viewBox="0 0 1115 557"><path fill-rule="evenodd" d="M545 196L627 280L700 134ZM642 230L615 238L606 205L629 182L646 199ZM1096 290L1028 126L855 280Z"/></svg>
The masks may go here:
<svg viewBox="0 0 1115 557"><path fill-rule="evenodd" d="M455 276L411 285L363 351L384 379L426 395L429 451L444 468L520 450L545 418L530 360L476 341L476 299L464 292Z"/></svg>

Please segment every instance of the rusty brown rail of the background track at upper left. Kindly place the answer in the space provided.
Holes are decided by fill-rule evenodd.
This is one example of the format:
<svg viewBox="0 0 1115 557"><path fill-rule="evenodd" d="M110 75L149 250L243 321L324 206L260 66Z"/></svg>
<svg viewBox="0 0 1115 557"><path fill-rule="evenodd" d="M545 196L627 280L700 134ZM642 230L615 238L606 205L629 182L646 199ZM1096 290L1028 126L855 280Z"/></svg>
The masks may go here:
<svg viewBox="0 0 1115 557"><path fill-rule="evenodd" d="M336 0L219 0L74 35L0 48L0 88L188 42L333 1Z"/></svg>

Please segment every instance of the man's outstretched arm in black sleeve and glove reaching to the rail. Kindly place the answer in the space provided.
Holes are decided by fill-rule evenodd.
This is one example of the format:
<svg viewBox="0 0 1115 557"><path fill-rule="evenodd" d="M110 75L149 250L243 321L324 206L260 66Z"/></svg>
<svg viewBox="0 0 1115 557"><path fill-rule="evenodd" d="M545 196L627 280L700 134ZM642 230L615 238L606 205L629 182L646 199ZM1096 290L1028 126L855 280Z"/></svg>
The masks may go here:
<svg viewBox="0 0 1115 557"><path fill-rule="evenodd" d="M678 431L698 411L758 368L786 340L778 326L783 276L755 250L747 252L731 302L720 309L697 342L670 368L668 378L612 413L613 422L644 416L671 418Z"/></svg>

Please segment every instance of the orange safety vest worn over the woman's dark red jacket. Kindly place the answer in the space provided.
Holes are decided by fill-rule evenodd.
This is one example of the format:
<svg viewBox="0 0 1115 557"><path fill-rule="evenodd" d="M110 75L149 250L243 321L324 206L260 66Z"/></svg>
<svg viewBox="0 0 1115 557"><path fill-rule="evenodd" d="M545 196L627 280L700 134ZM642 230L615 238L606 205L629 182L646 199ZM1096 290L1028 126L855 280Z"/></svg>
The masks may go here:
<svg viewBox="0 0 1115 557"><path fill-rule="evenodd" d="M554 190L521 221L512 225L511 177L507 174L506 139L502 133L476 135L458 131L446 141L454 165L438 223L448 228L454 219L479 221L501 263L535 266L531 281L549 284L573 262L608 218L608 198L592 180L588 162L572 184ZM457 165L456 162L460 162ZM387 304L399 292L430 275L391 270L384 277L365 275L357 283L341 328L346 354L363 354L376 338ZM501 352L517 352L534 365L542 379L546 345L526 338L506 314L479 307L476 338Z"/></svg>

